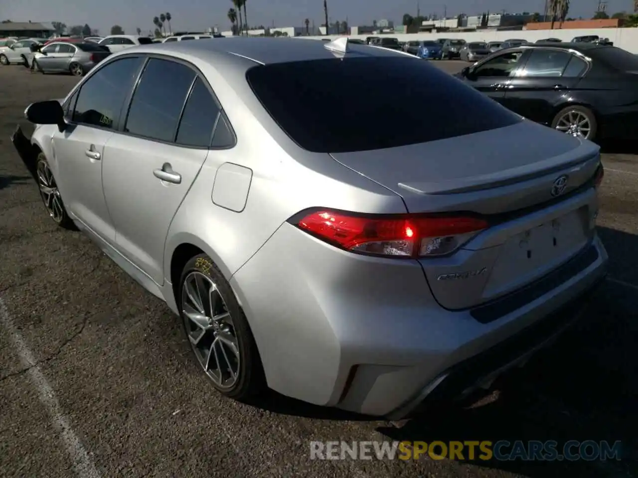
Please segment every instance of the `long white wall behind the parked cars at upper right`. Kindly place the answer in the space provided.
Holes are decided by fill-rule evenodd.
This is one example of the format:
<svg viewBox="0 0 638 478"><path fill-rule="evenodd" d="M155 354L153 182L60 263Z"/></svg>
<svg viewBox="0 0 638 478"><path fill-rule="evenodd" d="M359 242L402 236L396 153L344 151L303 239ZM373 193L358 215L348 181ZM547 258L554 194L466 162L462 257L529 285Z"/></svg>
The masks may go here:
<svg viewBox="0 0 638 478"><path fill-rule="evenodd" d="M609 38L614 42L614 47L620 47L628 52L638 54L638 28L595 28L595 29L553 29L553 30L519 30L519 31L480 31L472 33L398 33L388 34L399 41L409 40L436 40L437 38L463 38L466 41L503 41L508 38L522 38L527 41L537 41L544 38L560 38L570 41L575 36L598 35ZM365 40L371 34L351 35L350 38ZM322 36L306 36L321 40ZM338 38L333 36L332 39Z"/></svg>

